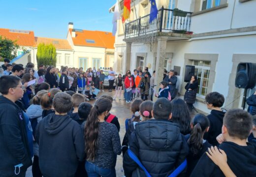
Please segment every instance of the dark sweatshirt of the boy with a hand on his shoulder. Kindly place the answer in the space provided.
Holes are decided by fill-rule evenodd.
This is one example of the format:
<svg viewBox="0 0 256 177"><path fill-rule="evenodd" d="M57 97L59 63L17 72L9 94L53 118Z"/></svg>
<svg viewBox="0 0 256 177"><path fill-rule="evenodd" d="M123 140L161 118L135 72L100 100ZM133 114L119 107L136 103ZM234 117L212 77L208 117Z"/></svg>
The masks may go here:
<svg viewBox="0 0 256 177"><path fill-rule="evenodd" d="M220 145L227 156L227 164L237 177L256 177L256 145L239 146L232 142ZM221 169L204 153L191 177L224 177Z"/></svg>

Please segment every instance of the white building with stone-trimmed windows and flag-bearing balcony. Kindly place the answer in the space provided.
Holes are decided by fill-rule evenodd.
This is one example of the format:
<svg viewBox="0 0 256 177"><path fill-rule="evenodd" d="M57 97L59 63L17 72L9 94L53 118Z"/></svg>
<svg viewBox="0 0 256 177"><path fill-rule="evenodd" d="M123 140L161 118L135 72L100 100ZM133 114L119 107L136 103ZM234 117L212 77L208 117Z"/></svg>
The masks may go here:
<svg viewBox="0 0 256 177"><path fill-rule="evenodd" d="M152 24L149 16L144 16L150 13L148 0L136 0L135 5L132 1L130 23L123 28L118 22L115 69L148 66L151 73L156 70L157 83L162 80L164 69L174 69L180 73L183 95L185 66L194 65L199 79L194 104L197 109L209 112L204 97L211 91L224 94L225 108L242 108L244 89L235 88L235 76L239 62L256 62L256 0L156 1L158 9L164 7L163 15L160 10ZM122 13L123 0L120 5ZM192 14L175 16L168 10L174 8ZM183 32L180 30L193 33L177 33ZM253 92L249 89L248 96Z"/></svg>

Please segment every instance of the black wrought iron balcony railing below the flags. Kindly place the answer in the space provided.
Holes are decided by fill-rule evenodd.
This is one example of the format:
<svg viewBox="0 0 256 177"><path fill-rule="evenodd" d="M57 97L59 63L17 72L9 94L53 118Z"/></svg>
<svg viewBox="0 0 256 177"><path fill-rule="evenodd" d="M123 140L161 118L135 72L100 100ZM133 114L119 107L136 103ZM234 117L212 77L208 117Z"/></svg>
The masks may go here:
<svg viewBox="0 0 256 177"><path fill-rule="evenodd" d="M192 12L161 8L157 18L149 23L150 14L126 24L125 38L143 36L153 32L191 33Z"/></svg>

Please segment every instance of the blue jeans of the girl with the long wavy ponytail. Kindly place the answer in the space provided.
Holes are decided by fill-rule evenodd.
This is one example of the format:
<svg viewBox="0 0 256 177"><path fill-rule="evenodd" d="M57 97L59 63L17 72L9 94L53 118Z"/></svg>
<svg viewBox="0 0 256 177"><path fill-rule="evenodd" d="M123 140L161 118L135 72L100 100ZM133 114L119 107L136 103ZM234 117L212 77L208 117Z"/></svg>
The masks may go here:
<svg viewBox="0 0 256 177"><path fill-rule="evenodd" d="M88 161L85 163L85 169L88 177L116 177L115 168L104 169Z"/></svg>

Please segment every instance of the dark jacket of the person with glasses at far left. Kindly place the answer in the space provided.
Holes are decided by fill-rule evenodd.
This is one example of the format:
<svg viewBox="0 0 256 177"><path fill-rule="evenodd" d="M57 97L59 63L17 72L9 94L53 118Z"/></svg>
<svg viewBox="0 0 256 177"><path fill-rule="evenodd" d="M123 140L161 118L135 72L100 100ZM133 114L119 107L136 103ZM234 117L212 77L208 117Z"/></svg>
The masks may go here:
<svg viewBox="0 0 256 177"><path fill-rule="evenodd" d="M14 166L32 165L23 111L11 100L0 96L0 174L14 176Z"/></svg>

